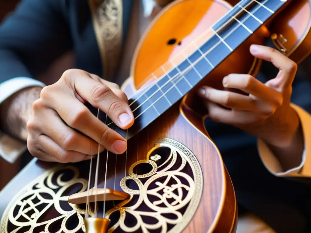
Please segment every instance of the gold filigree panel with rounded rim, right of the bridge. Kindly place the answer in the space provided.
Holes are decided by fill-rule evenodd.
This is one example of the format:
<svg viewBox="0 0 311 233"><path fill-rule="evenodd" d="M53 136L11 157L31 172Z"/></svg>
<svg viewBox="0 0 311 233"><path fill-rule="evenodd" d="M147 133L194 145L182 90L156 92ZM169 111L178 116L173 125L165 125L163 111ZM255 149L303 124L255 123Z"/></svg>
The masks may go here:
<svg viewBox="0 0 311 233"><path fill-rule="evenodd" d="M106 218L109 218L114 212L118 211L120 213L118 222L110 227L108 232L116 230L118 232L135 232L137 230L149 232L149 230L156 229L160 229L161 232L181 232L191 221L202 196L203 175L201 167L194 154L183 144L173 139L161 138L155 148L161 147L170 148L170 154L165 162L157 166L152 160L138 161L130 167L129 176L121 180L121 188L124 192L130 194L130 198L106 212ZM147 158L149 158L149 155ZM172 170L171 168L176 165L178 157L181 159L180 166ZM143 175L135 174L133 168L141 163L150 164L152 166L151 171ZM187 163L191 167L193 178L183 171ZM183 183L179 177L186 180L188 184ZM144 178L148 178L145 183L141 181ZM175 181L175 184L169 185L171 179ZM138 185L138 190L128 188L126 180L134 180ZM152 183L155 183L155 188L150 188ZM185 196L183 195L183 189L187 191ZM160 194L160 192L163 194ZM137 202L132 206L125 207L126 204L130 203L134 195L138 195ZM154 196L158 200L151 201L150 196ZM142 203L152 211L138 210ZM182 214L179 210L187 204L188 207ZM125 218L127 213L136 218L135 226L126 226ZM174 217L165 217L164 214L174 215ZM144 222L142 219L144 216L156 218L157 223L148 224ZM167 224L172 224L174 227L168 231Z"/></svg>

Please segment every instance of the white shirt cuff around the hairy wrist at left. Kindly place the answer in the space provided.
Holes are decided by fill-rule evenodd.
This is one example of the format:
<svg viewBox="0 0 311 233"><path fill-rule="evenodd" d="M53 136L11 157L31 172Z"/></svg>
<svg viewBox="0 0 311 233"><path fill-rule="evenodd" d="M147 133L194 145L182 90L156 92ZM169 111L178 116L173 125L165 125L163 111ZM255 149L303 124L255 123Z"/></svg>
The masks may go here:
<svg viewBox="0 0 311 233"><path fill-rule="evenodd" d="M16 77L1 83L0 104L17 91L31 86L44 87L45 85L38 80L28 77ZM26 149L27 145L25 143L0 132L0 156L7 162L14 163Z"/></svg>

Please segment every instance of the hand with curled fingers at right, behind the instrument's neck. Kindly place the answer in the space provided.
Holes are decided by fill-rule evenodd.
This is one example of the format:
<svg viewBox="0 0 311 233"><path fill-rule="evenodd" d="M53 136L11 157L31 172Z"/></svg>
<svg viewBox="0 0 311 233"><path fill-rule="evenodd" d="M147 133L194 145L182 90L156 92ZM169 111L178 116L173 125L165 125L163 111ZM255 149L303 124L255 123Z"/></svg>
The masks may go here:
<svg viewBox="0 0 311 233"><path fill-rule="evenodd" d="M252 45L250 52L254 57L272 62L280 70L278 75L262 83L250 75L230 74L223 79L225 90L203 86L199 95L205 99L212 120L239 127L272 146L289 147L297 134L302 134L299 117L290 107L297 65L266 46Z"/></svg>

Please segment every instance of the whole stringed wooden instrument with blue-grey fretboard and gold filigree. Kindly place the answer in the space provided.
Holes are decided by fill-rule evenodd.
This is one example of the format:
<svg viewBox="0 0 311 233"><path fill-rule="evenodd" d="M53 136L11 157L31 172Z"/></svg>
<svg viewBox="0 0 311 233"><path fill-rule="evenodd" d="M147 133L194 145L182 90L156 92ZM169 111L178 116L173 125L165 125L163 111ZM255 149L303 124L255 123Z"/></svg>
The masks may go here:
<svg viewBox="0 0 311 233"><path fill-rule="evenodd" d="M127 152L91 165L34 159L0 193L1 232L235 232L234 187L196 88L256 75L249 47L267 37L302 61L309 29L308 0L174 1L146 30L122 86L134 125L122 130L99 112Z"/></svg>

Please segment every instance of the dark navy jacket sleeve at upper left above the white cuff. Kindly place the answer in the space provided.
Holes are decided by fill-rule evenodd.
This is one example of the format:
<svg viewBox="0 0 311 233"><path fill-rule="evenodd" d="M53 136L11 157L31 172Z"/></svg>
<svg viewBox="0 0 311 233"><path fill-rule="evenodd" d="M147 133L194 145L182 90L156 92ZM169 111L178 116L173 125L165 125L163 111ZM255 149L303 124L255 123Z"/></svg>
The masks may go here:
<svg viewBox="0 0 311 233"><path fill-rule="evenodd" d="M0 84L34 77L71 48L66 1L23 0L0 25Z"/></svg>

